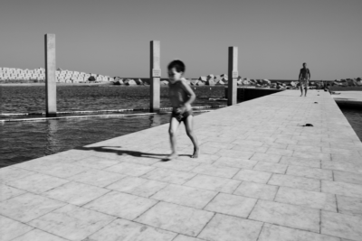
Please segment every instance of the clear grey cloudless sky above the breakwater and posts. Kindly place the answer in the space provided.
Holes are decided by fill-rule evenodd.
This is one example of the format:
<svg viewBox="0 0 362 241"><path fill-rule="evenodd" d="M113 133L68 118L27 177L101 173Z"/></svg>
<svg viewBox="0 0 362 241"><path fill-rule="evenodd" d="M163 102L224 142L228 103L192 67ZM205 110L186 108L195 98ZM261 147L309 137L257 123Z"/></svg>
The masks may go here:
<svg viewBox="0 0 362 241"><path fill-rule="evenodd" d="M44 67L45 33L56 34L57 67L147 78L149 42L186 78L227 72L251 79L362 77L362 0L1 0L0 67Z"/></svg>

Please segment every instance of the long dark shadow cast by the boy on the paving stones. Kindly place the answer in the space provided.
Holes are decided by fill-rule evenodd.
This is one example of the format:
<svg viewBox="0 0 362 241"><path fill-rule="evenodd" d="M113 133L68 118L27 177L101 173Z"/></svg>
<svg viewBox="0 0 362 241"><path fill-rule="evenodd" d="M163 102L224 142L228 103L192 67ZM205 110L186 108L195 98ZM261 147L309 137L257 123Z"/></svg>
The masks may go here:
<svg viewBox="0 0 362 241"><path fill-rule="evenodd" d="M80 146L75 148L76 150L82 150L82 151L95 151L100 153L116 153L118 155L130 155L134 157L145 157L145 158L152 158L152 159L159 159L162 162L170 161L167 156L169 154L165 153L143 153L138 151L129 151L129 150L116 150L111 148L122 148L121 146L96 146L96 147L85 147ZM179 156L190 156L187 154L180 154Z"/></svg>

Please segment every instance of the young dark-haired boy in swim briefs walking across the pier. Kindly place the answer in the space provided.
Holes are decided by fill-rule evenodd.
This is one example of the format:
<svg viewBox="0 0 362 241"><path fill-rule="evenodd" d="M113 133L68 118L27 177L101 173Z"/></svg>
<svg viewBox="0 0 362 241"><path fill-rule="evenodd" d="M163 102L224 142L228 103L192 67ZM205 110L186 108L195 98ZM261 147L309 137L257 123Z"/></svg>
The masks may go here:
<svg viewBox="0 0 362 241"><path fill-rule="evenodd" d="M194 116L191 107L191 104L194 102L196 97L195 93L184 78L186 67L181 60L173 60L168 64L167 69L169 78L168 94L172 106L172 115L168 130L172 153L168 156L167 160L172 160L178 155L176 150L176 132L178 125L180 125L181 122L184 122L186 134L190 137L192 143L194 144L194 153L191 158L197 158L199 146L193 130Z"/></svg>

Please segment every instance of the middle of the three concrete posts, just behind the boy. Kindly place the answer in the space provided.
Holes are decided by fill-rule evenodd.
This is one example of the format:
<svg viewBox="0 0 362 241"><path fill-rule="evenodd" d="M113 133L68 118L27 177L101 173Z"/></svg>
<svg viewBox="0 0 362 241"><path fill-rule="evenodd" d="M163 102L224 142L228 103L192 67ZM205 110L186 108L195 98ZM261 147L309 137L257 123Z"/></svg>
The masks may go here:
<svg viewBox="0 0 362 241"><path fill-rule="evenodd" d="M160 42L150 42L150 66L149 66L149 79L150 79L150 112L159 111L160 107Z"/></svg>

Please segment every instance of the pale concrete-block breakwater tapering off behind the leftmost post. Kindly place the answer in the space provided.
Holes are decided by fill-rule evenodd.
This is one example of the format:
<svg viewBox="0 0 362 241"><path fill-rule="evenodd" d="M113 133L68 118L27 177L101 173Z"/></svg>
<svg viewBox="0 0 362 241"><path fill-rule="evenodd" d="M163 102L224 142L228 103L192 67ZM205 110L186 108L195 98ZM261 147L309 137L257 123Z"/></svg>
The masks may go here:
<svg viewBox="0 0 362 241"><path fill-rule="evenodd" d="M59 83L100 83L110 82L113 78L102 76L100 74L85 73L71 70L56 70L56 81ZM17 82L44 82L45 69L38 68L34 70L22 70L15 68L0 68L0 83Z"/></svg>

